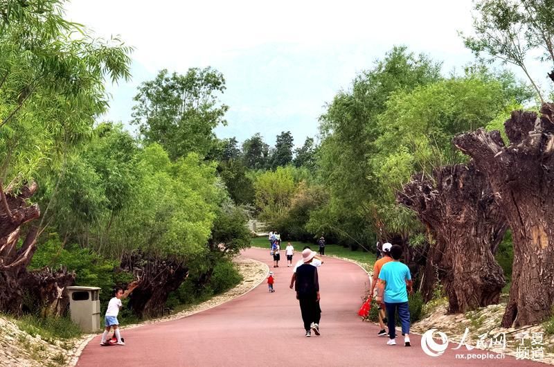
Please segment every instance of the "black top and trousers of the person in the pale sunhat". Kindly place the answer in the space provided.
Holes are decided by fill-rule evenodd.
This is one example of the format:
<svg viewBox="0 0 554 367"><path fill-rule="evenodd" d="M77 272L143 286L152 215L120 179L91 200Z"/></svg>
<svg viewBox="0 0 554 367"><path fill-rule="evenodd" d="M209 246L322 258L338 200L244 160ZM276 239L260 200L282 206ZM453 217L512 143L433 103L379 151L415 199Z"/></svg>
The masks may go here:
<svg viewBox="0 0 554 367"><path fill-rule="evenodd" d="M304 329L310 331L312 323L318 323L321 319L321 308L317 301L319 292L319 279L316 267L304 264L296 269L296 296L300 302L300 311L304 321Z"/></svg>

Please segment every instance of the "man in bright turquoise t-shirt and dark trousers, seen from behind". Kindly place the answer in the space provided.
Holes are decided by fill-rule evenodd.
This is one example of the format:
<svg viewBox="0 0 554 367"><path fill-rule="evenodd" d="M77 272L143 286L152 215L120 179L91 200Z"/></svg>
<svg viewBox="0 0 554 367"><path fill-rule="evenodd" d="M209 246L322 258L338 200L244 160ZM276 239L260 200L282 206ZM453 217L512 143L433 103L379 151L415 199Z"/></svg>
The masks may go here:
<svg viewBox="0 0 554 367"><path fill-rule="evenodd" d="M395 346L395 314L398 311L404 346L410 346L410 310L408 307L408 293L412 292L410 269L400 262L402 247L397 244L391 247L393 261L387 262L379 272L379 284L375 301L385 303L388 321L388 346Z"/></svg>

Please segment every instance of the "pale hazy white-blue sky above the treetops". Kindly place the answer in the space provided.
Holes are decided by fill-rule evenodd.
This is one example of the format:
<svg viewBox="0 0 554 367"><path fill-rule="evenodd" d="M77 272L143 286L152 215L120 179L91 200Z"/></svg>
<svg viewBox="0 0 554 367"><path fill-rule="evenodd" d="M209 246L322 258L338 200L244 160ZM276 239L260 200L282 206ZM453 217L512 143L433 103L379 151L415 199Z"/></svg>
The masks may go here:
<svg viewBox="0 0 554 367"><path fill-rule="evenodd" d="M107 119L127 124L136 87L160 69L213 66L230 106L217 136L260 132L271 145L282 131L296 145L316 136L325 103L393 45L443 61L445 72L473 60L457 35L471 30L471 0L73 0L66 10L135 48L133 80L109 87Z"/></svg>

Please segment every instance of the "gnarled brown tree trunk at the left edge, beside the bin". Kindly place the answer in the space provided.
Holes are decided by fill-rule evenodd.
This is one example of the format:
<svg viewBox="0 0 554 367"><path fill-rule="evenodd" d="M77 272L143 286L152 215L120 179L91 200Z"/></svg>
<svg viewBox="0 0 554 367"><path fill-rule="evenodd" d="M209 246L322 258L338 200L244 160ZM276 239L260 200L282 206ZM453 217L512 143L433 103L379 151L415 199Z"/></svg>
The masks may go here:
<svg viewBox="0 0 554 367"><path fill-rule="evenodd" d="M26 202L36 190L37 184L31 183L19 193L12 193L10 187L4 192L0 183L0 310L21 314L24 301L30 301L32 304L26 307L39 307L43 314L60 315L68 302L65 288L75 283L75 274L65 270L27 271L37 249L36 227L28 230L17 249L21 226L40 216L37 204Z"/></svg>

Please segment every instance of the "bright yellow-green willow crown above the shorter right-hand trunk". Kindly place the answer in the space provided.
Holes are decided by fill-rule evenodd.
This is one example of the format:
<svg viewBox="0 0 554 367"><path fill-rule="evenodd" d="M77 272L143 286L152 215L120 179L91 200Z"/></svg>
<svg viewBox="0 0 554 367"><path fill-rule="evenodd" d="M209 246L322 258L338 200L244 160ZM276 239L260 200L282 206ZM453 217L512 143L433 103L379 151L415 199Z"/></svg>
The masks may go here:
<svg viewBox="0 0 554 367"><path fill-rule="evenodd" d="M465 75L397 91L378 118L381 135L370 160L379 191L399 190L414 172L431 174L441 165L467 161L452 145L456 134L483 127L532 98L533 91L512 73L490 73L482 67ZM392 190L391 190L392 189Z"/></svg>

